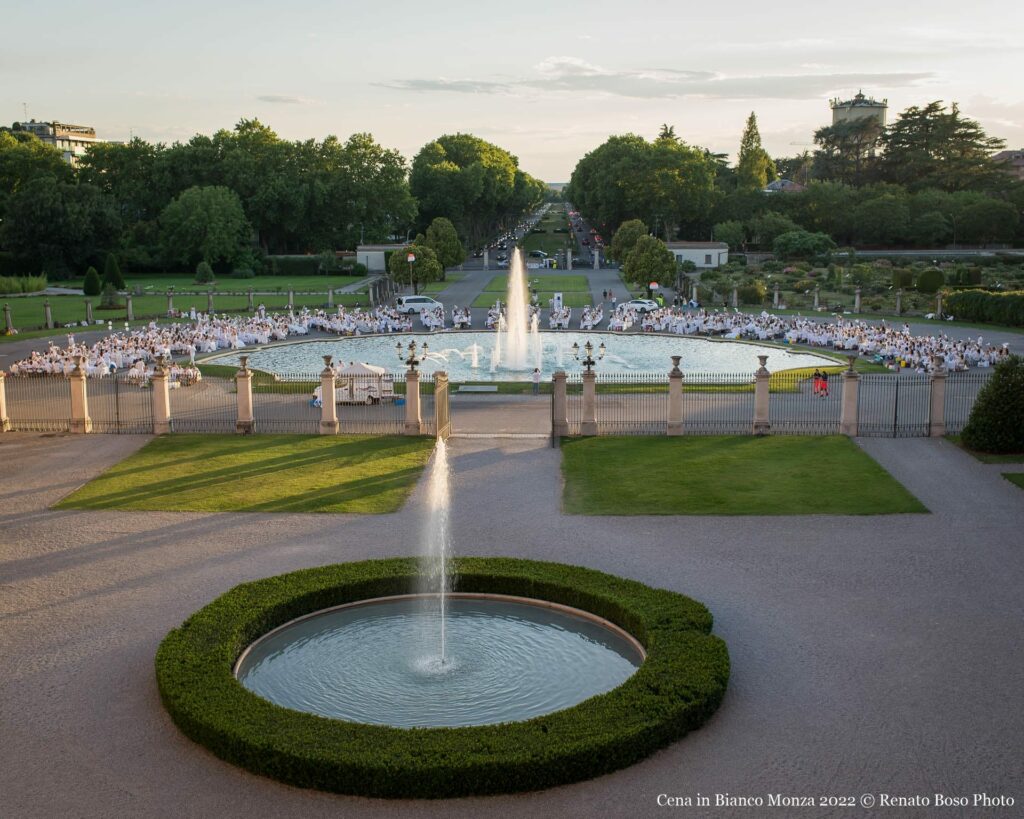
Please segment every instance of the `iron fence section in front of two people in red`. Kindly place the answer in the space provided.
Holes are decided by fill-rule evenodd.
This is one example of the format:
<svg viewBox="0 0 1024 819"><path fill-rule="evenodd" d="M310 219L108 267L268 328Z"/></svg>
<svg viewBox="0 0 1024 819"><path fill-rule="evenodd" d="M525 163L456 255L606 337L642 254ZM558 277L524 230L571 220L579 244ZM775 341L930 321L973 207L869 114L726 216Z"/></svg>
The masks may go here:
<svg viewBox="0 0 1024 819"><path fill-rule="evenodd" d="M772 434L836 435L843 408L839 376L816 382L803 371L773 373L768 423Z"/></svg>

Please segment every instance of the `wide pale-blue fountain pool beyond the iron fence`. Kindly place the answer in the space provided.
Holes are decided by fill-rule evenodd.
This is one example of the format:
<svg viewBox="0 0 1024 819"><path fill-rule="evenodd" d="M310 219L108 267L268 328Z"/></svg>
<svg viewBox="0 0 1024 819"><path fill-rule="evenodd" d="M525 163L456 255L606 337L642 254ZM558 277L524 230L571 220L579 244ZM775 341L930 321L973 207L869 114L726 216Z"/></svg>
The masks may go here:
<svg viewBox="0 0 1024 819"><path fill-rule="evenodd" d="M250 367L278 375L316 374L324 367L325 355L333 355L336 361L362 361L389 370L401 370L402 362L395 352L395 344L400 341L406 346L415 341L418 347L422 347L423 342L428 342L430 353L420 369L424 373L443 370L456 382L528 381L535 367L540 368L545 379L550 379L557 370L579 370L580 364L572 357L572 344L583 347L588 341L595 348L603 343L607 349L600 373L668 373L673 355L682 356L680 367L688 374L752 374L758 369L758 355L770 356L768 369L773 372L837 363L835 358L824 355L768 344L686 336L569 331L542 332L538 336L528 340L526 363L518 370L505 364L492 368L498 338L495 333L351 336L325 341L287 342L262 347L248 354ZM206 361L237 365L239 354L223 353Z"/></svg>

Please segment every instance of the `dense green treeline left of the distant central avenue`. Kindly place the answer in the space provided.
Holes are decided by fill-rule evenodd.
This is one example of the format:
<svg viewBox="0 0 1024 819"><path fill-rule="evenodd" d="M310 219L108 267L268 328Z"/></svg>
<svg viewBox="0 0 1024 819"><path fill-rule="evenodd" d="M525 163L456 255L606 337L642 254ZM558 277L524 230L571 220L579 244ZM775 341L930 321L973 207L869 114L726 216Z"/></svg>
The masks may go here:
<svg viewBox="0 0 1024 819"><path fill-rule="evenodd" d="M186 142L91 145L77 167L0 129L0 274L81 274L116 253L163 271L259 270L271 255L406 241L436 217L470 245L514 224L546 185L516 157L447 134L407 162L369 133L285 140L258 120Z"/></svg>

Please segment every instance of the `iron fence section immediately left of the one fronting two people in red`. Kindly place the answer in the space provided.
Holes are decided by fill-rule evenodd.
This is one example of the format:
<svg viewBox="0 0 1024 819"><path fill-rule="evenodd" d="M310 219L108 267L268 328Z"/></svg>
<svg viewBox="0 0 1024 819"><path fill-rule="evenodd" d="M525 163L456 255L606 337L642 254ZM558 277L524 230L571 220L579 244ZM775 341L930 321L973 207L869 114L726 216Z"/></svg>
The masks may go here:
<svg viewBox="0 0 1024 819"><path fill-rule="evenodd" d="M749 435L754 429L753 373L686 373L683 432Z"/></svg>

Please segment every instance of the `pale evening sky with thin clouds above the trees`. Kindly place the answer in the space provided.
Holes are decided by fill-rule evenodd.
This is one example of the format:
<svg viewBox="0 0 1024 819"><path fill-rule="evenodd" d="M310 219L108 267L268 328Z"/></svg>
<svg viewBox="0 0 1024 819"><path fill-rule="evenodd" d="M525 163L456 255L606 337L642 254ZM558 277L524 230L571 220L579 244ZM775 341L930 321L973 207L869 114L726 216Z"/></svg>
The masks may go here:
<svg viewBox="0 0 1024 819"><path fill-rule="evenodd" d="M775 156L811 148L828 100L890 117L933 99L1024 147L1024 4L862 0L354 3L124 0L3 8L0 122L152 141L258 118L290 139L370 131L413 155L468 131L564 181L609 134L674 125L735 154L758 114Z"/></svg>

